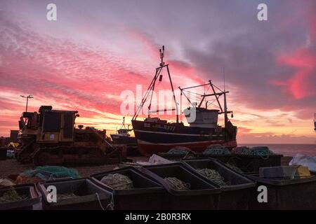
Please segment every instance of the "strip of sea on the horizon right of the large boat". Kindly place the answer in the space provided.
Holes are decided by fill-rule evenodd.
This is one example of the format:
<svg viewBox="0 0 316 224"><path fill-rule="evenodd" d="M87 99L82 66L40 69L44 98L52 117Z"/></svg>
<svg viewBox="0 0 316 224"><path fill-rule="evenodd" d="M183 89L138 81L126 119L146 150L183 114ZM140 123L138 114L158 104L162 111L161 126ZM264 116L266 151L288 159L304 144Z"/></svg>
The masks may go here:
<svg viewBox="0 0 316 224"><path fill-rule="evenodd" d="M273 153L294 156L298 153L316 156L316 144L238 144L238 146L268 146Z"/></svg>

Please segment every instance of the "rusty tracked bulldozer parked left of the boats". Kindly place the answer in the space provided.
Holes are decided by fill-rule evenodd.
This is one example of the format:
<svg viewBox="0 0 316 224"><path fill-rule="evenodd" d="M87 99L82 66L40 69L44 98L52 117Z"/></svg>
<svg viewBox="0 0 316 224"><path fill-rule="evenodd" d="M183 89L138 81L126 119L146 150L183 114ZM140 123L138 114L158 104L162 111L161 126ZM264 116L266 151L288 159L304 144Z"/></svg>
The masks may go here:
<svg viewBox="0 0 316 224"><path fill-rule="evenodd" d="M119 163L124 146L112 146L105 132L93 127L76 127L77 117L78 111L53 110L52 106L23 112L15 158L34 165Z"/></svg>

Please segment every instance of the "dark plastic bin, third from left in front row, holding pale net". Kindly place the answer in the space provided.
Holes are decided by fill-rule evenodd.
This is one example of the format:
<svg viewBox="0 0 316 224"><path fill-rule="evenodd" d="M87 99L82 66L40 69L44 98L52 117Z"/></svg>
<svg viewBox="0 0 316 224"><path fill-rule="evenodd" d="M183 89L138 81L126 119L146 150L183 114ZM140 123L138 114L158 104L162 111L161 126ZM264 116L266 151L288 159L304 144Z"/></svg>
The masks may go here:
<svg viewBox="0 0 316 224"><path fill-rule="evenodd" d="M108 174L122 174L128 176L133 181L133 189L114 190L110 186L101 182ZM114 195L114 209L118 210L157 210L164 206L166 190L154 181L150 176L143 174L134 167L124 167L114 169L110 172L103 172L91 175L93 181L105 190L109 190Z"/></svg>

